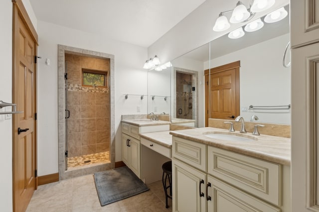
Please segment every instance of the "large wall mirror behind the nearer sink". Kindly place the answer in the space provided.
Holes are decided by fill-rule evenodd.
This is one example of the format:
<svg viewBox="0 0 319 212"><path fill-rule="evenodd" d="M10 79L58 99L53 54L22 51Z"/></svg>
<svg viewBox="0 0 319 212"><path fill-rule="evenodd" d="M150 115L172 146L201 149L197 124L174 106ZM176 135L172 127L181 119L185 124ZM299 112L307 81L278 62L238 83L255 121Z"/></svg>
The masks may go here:
<svg viewBox="0 0 319 212"><path fill-rule="evenodd" d="M288 5L285 9L289 12ZM239 39L230 39L226 34L172 60L169 70L172 122L183 125L193 122L196 127L204 127L205 115L221 119L241 115L246 121L256 115L259 122L290 124L291 70L283 66L289 32L288 15L276 23L265 23L258 31L245 32ZM290 52L287 53L289 60ZM229 64L239 64L238 113L214 117L223 108L214 100L222 92L214 90L217 78L212 74Z"/></svg>

